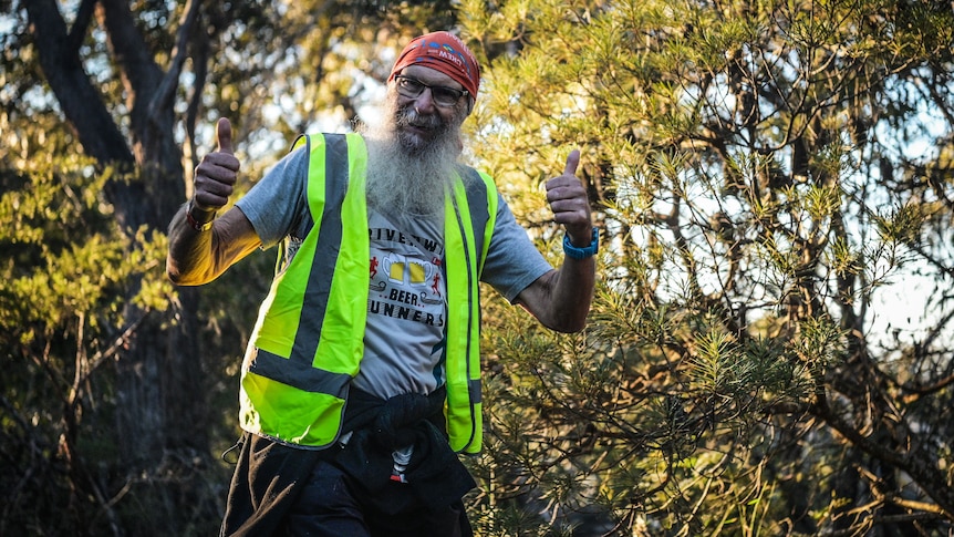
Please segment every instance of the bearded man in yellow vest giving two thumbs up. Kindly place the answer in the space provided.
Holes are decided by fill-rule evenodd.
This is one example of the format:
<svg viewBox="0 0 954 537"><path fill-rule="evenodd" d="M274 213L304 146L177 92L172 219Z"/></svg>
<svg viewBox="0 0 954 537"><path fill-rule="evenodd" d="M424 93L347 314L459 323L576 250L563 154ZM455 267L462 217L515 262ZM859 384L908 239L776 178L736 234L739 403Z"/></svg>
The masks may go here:
<svg viewBox="0 0 954 537"><path fill-rule="evenodd" d="M236 206L227 120L169 229L169 278L206 283L259 247L281 264L242 364L241 451L222 535L470 535L458 453L480 448L477 280L583 328L597 233L579 152L547 183L553 269L485 174L458 164L480 83L456 37L413 40L384 121L302 137Z"/></svg>

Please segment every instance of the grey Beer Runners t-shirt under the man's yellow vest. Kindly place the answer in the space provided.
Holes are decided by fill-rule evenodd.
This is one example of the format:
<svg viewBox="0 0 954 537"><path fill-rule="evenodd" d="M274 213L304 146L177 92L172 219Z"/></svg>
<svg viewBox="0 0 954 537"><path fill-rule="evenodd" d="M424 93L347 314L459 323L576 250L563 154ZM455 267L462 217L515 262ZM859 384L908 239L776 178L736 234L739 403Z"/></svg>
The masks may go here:
<svg viewBox="0 0 954 537"><path fill-rule="evenodd" d="M288 238L286 264L313 226L304 148L282 158L236 206L268 248ZM364 358L353 385L380 397L431 393L444 383L443 225L369 215L371 273ZM507 300L552 267L498 198L494 236L480 280Z"/></svg>

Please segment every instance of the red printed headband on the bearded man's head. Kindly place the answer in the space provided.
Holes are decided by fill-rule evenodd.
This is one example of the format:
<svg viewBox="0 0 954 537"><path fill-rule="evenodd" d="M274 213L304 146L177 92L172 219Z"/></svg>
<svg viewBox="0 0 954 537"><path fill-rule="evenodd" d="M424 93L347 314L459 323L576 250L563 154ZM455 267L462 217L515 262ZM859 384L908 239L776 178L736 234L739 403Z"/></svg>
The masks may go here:
<svg viewBox="0 0 954 537"><path fill-rule="evenodd" d="M477 99L480 87L480 68L477 59L456 35L434 32L415 38L401 51L387 81L394 80L404 68L423 65L440 71L464 86L471 99Z"/></svg>

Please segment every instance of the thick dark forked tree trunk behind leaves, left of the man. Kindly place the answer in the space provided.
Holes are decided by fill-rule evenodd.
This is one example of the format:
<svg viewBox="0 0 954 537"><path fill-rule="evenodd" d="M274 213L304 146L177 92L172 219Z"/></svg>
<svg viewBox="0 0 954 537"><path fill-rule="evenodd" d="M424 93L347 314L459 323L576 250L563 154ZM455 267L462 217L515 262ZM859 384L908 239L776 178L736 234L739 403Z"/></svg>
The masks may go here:
<svg viewBox="0 0 954 537"><path fill-rule="evenodd" d="M129 248L139 249L142 237L165 233L185 198L172 99L178 72L164 73L155 64L127 1L83 0L74 28L69 30L55 0L31 0L24 6L43 73L66 121L101 169L117 172L106 186L106 195L120 228L129 238ZM191 2L189 6L187 12L195 16L197 10ZM79 55L77 43L90 31L94 10L107 30L122 72L132 141L122 134ZM194 506L178 505L187 502L183 489L195 478L196 462L205 464L210 452L207 390L196 337L198 300L196 290L184 289L178 302L166 311L145 311L134 302L143 276L132 279L126 288L125 322L142 323L116 362L121 461L110 474L125 475L128 483L144 483L147 494L157 495L155 502L137 495L143 513L136 515L142 517L136 529L153 533L163 528L174 535L183 526L177 514L194 510ZM115 331L123 329L116 327ZM159 476L162 481L155 478Z"/></svg>

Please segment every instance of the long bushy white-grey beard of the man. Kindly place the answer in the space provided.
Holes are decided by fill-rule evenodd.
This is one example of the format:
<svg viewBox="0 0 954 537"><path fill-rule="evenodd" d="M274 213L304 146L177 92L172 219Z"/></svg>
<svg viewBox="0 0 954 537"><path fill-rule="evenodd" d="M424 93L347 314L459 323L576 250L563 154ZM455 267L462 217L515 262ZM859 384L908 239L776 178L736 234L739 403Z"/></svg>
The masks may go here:
<svg viewBox="0 0 954 537"><path fill-rule="evenodd" d="M437 126L433 140L423 143L402 140L396 124L428 122L413 110L388 110L382 125L365 128L367 142L367 204L395 218L423 217L442 220L444 193L457 176L460 153L456 126Z"/></svg>

